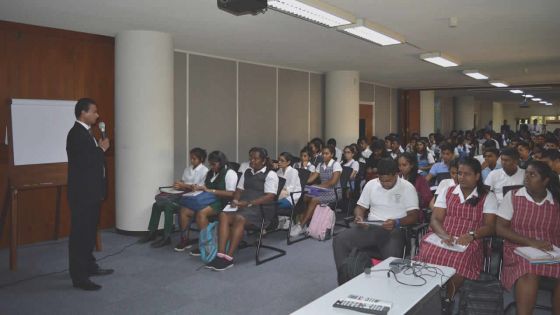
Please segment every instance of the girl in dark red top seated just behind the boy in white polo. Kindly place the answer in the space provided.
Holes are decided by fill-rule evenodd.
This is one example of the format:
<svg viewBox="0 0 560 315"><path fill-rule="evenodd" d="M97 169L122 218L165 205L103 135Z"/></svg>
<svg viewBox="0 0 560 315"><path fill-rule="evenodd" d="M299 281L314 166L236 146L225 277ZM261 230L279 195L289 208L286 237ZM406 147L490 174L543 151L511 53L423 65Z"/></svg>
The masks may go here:
<svg viewBox="0 0 560 315"><path fill-rule="evenodd" d="M428 208L432 200L432 191L426 179L418 173L416 154L405 152L399 157L398 163L402 178L409 181L416 189L420 209Z"/></svg>

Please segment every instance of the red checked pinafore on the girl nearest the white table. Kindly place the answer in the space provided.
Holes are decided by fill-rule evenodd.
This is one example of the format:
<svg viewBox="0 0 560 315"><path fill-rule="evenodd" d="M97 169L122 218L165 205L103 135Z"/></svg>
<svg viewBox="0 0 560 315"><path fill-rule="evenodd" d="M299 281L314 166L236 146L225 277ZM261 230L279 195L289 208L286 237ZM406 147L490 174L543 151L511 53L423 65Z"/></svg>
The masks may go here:
<svg viewBox="0 0 560 315"><path fill-rule="evenodd" d="M443 228L449 235L460 236L481 227L484 223L483 208L488 194L483 195L476 206L467 202L461 204L459 195L453 194L454 187L447 189L445 196L447 210ZM433 232L424 236L420 244L420 252L414 259L430 264L453 267L456 273L464 278L477 280L482 269L482 241L475 240L464 252L450 251L425 241Z"/></svg>

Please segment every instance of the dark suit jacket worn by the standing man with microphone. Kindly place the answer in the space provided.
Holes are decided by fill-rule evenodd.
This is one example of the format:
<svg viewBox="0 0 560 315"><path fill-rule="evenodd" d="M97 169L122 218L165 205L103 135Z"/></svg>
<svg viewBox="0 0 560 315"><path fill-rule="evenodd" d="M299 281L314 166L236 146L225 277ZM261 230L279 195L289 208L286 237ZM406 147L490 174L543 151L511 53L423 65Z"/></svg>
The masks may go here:
<svg viewBox="0 0 560 315"><path fill-rule="evenodd" d="M92 136L80 123L68 132L68 200L71 203L101 201L106 194L105 157Z"/></svg>

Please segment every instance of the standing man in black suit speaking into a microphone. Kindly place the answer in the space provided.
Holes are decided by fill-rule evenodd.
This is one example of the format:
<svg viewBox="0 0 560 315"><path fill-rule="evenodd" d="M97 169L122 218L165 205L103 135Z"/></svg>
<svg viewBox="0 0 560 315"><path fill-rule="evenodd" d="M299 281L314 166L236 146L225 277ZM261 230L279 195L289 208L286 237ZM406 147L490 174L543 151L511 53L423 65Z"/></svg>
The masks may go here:
<svg viewBox="0 0 560 315"><path fill-rule="evenodd" d="M91 125L99 114L92 99L82 98L74 109L76 123L66 138L68 154L68 204L71 211L68 244L70 277L74 287L94 291L101 286L90 276L107 275L112 269L101 269L95 262L93 248L101 202L106 194L106 170L103 153L109 149L109 139L95 140Z"/></svg>

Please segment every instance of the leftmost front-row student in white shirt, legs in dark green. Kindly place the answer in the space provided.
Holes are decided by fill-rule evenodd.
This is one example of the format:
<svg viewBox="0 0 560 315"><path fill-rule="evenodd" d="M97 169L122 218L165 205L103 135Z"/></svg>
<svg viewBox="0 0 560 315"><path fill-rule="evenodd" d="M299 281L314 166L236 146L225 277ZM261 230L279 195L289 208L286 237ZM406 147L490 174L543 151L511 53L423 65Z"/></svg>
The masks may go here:
<svg viewBox="0 0 560 315"><path fill-rule="evenodd" d="M204 178L208 172L208 168L204 166L206 159L206 151L201 148L193 148L190 152L191 165L185 168L181 181L176 182L173 188L177 190L193 190L195 185L202 185ZM152 214L148 223L148 233L144 235L138 243L147 243L156 239L157 228L161 213L164 213L163 237L150 245L155 248L163 247L171 244L171 232L173 232L173 214L179 210L181 206L175 202L156 201L152 205Z"/></svg>

